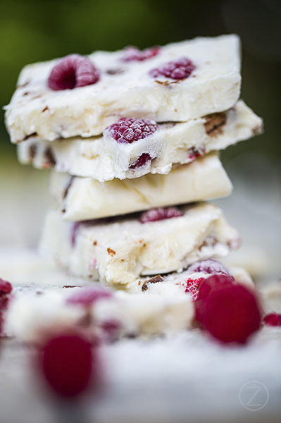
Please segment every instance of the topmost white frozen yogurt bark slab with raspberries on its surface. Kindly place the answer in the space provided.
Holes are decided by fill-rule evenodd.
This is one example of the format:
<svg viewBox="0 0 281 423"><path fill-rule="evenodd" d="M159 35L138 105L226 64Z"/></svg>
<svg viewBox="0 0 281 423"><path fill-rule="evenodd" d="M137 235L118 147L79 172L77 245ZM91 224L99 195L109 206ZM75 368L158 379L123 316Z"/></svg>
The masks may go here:
<svg viewBox="0 0 281 423"><path fill-rule="evenodd" d="M121 117L187 121L230 109L240 82L237 35L72 55L23 68L6 126L21 142L92 137Z"/></svg>

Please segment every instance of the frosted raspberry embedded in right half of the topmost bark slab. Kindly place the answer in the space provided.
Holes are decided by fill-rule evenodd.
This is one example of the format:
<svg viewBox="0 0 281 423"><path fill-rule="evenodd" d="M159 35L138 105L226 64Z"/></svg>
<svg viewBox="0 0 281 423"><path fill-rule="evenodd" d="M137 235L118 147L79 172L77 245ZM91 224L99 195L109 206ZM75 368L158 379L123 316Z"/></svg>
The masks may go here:
<svg viewBox="0 0 281 423"><path fill-rule="evenodd" d="M182 59L177 61L170 61L163 64L159 68L152 69L149 71L149 75L153 76L154 78L165 76L166 78L174 80L182 80L188 78L194 69L194 63L187 59L187 57L182 57Z"/></svg>

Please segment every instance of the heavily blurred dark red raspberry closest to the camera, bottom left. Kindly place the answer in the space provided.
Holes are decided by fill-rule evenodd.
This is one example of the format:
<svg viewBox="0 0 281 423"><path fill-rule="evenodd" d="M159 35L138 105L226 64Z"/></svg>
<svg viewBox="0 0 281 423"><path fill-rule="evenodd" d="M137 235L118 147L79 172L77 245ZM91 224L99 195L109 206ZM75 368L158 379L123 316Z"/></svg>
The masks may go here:
<svg viewBox="0 0 281 423"><path fill-rule="evenodd" d="M93 352L89 341L82 336L61 334L49 339L43 346L39 354L39 369L55 393L75 397L89 386L96 365Z"/></svg>

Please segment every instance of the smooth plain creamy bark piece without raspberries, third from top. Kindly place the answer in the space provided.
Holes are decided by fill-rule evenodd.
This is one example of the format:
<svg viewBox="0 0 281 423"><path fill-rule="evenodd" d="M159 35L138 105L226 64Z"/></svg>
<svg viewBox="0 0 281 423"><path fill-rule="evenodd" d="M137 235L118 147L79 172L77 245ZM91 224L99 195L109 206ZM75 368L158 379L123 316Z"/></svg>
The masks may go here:
<svg viewBox="0 0 281 423"><path fill-rule="evenodd" d="M49 190L63 219L81 221L211 200L229 195L232 184L218 154L210 153L173 168L168 175L148 174L135 179L99 182L53 171Z"/></svg>

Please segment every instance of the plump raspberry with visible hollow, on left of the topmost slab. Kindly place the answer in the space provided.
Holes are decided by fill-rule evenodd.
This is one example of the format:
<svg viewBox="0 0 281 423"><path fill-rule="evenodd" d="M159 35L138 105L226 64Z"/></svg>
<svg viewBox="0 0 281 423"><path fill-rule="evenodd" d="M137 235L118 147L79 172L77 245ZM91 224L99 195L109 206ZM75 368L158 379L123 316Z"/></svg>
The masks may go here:
<svg viewBox="0 0 281 423"><path fill-rule="evenodd" d="M48 87L51 90L73 90L98 82L99 71L85 56L70 54L63 57L51 70Z"/></svg>

